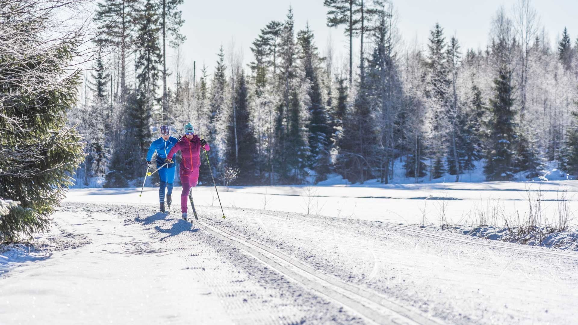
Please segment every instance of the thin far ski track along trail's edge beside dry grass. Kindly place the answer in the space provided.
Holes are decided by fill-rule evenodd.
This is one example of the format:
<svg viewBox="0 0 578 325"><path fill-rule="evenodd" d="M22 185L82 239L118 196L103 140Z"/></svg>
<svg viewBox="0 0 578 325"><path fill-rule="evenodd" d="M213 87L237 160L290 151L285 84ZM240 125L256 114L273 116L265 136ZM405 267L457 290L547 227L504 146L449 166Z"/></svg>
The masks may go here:
<svg viewBox="0 0 578 325"><path fill-rule="evenodd" d="M255 211L255 213L258 213L258 214L260 214L262 216L266 216L266 217L273 217L272 215L267 215L266 213L262 213L262 212L256 212ZM433 232L431 230L422 230L422 229L410 228L410 227L392 226L389 224L377 223L375 221L351 220L351 219L343 219L343 218L338 218L338 217L329 217L329 216L320 216L320 215L316 215L315 217L322 217L322 218L328 219L328 220L338 220L338 221L343 221L343 222L365 224L367 226L384 227L384 228L390 228L390 229L399 230L399 231L409 231L409 232L414 232L416 234L426 235L428 237L450 239L452 241L470 243L472 245L481 245L481 246L494 247L494 248L505 248L505 249L510 249L510 250L517 250L518 252L529 252L529 253L539 253L539 254L547 254L547 255L554 255L554 256L578 258L578 252L571 252L571 251L565 252L564 250L555 249L555 248L553 248L551 251L547 251L547 250L539 249L538 247L533 247L533 246L528 246L528 245L523 245L523 244L513 244L510 246L510 245L507 245L505 243L500 243L498 241L492 241L492 239L485 239L485 238L479 238L480 240L476 241L476 240L469 239L469 238L458 238L458 237L454 237L451 235L436 234L435 232ZM467 237L466 235L463 235L463 236Z"/></svg>

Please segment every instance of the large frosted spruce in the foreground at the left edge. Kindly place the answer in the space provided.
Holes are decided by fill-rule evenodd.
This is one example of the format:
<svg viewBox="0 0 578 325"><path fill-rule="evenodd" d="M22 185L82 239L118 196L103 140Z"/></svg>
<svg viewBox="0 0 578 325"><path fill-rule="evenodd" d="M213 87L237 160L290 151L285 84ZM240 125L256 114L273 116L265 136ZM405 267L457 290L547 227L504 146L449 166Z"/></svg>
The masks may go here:
<svg viewBox="0 0 578 325"><path fill-rule="evenodd" d="M65 126L80 71L64 69L83 30L62 31L56 15L47 3L0 1L0 200L21 202L0 219L0 241L46 230L83 160Z"/></svg>

